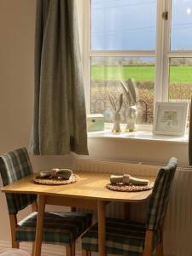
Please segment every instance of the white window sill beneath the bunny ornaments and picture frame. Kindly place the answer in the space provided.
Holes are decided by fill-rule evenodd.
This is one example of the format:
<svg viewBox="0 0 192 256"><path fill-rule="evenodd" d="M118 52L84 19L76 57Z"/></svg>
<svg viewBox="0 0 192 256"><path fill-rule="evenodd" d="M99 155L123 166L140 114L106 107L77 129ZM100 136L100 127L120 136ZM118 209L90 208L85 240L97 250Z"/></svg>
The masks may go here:
<svg viewBox="0 0 192 256"><path fill-rule="evenodd" d="M186 133L184 137L177 137L171 135L154 135L152 131L136 131L136 132L121 132L119 134L112 133L111 130L105 131L91 131L88 132L89 138L108 138L119 140L137 140L151 141L162 143L188 143L189 134Z"/></svg>

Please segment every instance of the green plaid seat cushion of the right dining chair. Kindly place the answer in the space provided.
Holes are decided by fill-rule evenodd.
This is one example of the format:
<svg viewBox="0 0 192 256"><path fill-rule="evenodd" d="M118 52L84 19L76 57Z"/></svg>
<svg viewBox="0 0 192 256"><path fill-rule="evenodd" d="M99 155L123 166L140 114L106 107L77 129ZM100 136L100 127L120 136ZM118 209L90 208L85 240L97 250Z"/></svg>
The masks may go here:
<svg viewBox="0 0 192 256"><path fill-rule="evenodd" d="M106 247L111 254L142 255L145 224L129 222L125 219L106 218ZM159 241L159 232L155 232L153 246ZM82 249L98 252L98 224L93 225L82 236Z"/></svg>

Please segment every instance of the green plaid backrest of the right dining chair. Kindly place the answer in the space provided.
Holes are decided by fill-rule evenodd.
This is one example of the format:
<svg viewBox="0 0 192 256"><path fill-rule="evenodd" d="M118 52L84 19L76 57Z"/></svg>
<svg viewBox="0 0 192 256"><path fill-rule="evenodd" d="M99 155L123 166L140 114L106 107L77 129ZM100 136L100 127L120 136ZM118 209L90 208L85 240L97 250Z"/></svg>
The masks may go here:
<svg viewBox="0 0 192 256"><path fill-rule="evenodd" d="M162 167L158 172L154 189L148 202L147 230L157 230L163 224L176 168L177 159L172 157L167 166Z"/></svg>

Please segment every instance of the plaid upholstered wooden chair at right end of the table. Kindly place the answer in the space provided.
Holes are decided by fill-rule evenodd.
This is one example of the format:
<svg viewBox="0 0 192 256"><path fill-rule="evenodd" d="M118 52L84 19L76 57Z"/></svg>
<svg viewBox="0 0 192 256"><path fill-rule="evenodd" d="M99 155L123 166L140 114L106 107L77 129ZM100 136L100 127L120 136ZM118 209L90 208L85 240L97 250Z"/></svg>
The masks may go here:
<svg viewBox="0 0 192 256"><path fill-rule="evenodd" d="M106 218L107 253L150 256L156 248L157 256L163 256L163 222L176 168L177 159L172 157L158 172L145 224ZM90 227L82 237L83 255L90 256L91 252L98 252L98 224Z"/></svg>

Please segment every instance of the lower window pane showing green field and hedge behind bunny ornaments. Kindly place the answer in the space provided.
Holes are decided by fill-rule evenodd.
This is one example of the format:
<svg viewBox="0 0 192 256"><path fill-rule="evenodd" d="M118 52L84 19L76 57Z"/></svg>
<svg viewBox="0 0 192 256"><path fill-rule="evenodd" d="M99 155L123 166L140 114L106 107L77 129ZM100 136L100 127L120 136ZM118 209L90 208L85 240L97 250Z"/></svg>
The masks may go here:
<svg viewBox="0 0 192 256"><path fill-rule="evenodd" d="M154 58L93 57L91 58L91 113L103 113L112 122L109 93L118 102L123 92L120 81L135 79L137 84L137 123L151 123L154 112ZM127 102L121 108L121 123L126 123Z"/></svg>

